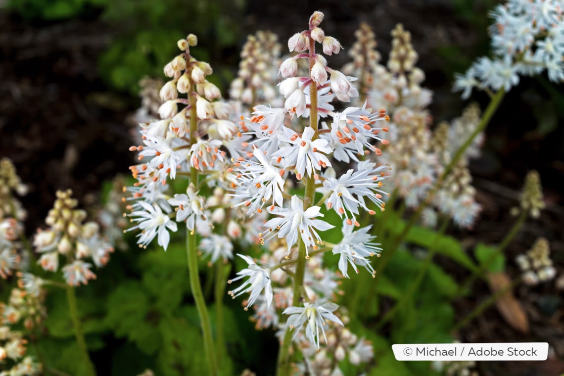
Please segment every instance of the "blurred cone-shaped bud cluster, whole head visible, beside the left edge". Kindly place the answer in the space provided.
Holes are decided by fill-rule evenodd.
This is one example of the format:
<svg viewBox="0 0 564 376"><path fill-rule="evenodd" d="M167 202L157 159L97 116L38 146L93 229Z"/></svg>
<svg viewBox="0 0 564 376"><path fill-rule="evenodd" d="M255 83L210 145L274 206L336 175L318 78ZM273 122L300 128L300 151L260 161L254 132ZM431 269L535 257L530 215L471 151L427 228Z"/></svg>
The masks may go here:
<svg viewBox="0 0 564 376"><path fill-rule="evenodd" d="M83 223L86 211L76 209L78 202L72 198L72 191L57 191L53 209L47 214L45 223L49 229L38 229L33 240L36 250L41 253L38 263L47 271L56 272L59 268L59 255L65 258L64 279L71 286L87 284L96 278L90 270L91 258L96 267L103 267L109 260L113 247L99 235L95 222Z"/></svg>

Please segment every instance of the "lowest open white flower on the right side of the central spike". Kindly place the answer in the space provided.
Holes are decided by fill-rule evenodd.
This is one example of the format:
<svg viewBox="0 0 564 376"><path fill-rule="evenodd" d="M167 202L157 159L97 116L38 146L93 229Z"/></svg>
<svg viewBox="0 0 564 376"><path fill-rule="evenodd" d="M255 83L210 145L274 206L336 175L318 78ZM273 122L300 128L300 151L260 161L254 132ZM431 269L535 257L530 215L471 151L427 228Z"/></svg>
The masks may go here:
<svg viewBox="0 0 564 376"><path fill-rule="evenodd" d="M342 232L343 238L333 247L333 254L340 255L339 259L339 270L343 273L343 276L349 278L349 273L347 273L348 266L351 264L352 268L358 274L357 266L362 266L367 271L375 273L368 257L375 254L380 256L380 251L382 250L378 245L379 243L374 243L376 237L369 234L372 225L361 228L358 231L352 232L352 226L346 226L343 223Z"/></svg>

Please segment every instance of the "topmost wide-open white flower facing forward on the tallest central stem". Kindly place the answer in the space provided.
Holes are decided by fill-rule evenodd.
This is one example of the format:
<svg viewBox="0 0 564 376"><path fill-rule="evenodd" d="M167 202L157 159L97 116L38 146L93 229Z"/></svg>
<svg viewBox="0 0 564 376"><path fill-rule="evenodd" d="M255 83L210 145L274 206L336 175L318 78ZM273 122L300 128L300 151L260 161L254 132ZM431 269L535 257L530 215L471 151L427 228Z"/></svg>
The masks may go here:
<svg viewBox="0 0 564 376"><path fill-rule="evenodd" d="M296 165L296 177L301 180L304 176L311 176L314 170L331 166L331 162L325 154L332 152L329 143L324 139L312 140L315 131L312 127L306 127L302 136L294 134L288 140L292 146L285 146L272 154L273 157L283 157L284 166L287 168ZM322 154L325 153L325 154ZM307 175L304 175L307 173Z"/></svg>

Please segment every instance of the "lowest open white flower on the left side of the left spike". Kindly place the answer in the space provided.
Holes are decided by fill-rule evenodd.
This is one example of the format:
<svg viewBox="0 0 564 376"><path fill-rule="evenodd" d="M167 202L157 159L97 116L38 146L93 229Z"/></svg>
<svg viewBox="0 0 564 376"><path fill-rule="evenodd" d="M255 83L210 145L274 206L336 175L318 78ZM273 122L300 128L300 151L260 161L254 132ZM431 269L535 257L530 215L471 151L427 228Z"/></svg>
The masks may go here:
<svg viewBox="0 0 564 376"><path fill-rule="evenodd" d="M170 220L169 216L162 213L162 209L157 205L151 205L144 201L139 201L138 204L142 210L135 210L130 214L134 218L137 225L131 227L128 231L139 228L142 232L138 235L139 240L137 243L143 247L147 245L157 236L158 245L162 246L165 251L169 245L170 234L169 230L176 232L177 224Z"/></svg>

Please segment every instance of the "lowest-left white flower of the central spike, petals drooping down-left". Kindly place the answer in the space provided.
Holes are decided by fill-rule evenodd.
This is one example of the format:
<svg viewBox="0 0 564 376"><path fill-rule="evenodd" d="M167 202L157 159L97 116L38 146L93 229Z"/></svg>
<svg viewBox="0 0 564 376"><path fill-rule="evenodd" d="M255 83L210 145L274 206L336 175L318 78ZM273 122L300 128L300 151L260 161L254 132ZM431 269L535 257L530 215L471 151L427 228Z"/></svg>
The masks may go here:
<svg viewBox="0 0 564 376"><path fill-rule="evenodd" d="M247 300L247 305L245 311L249 306L252 306L255 300L259 297L262 290L265 290L265 300L267 307L270 307L272 303L272 285L270 284L270 269L261 268L254 262L249 256L237 254L240 258L246 261L249 266L240 272L237 272L237 276L232 280L227 281L228 284L240 280L241 278L249 277L245 283L235 290L228 291L233 299L244 293L250 293L250 297Z"/></svg>

